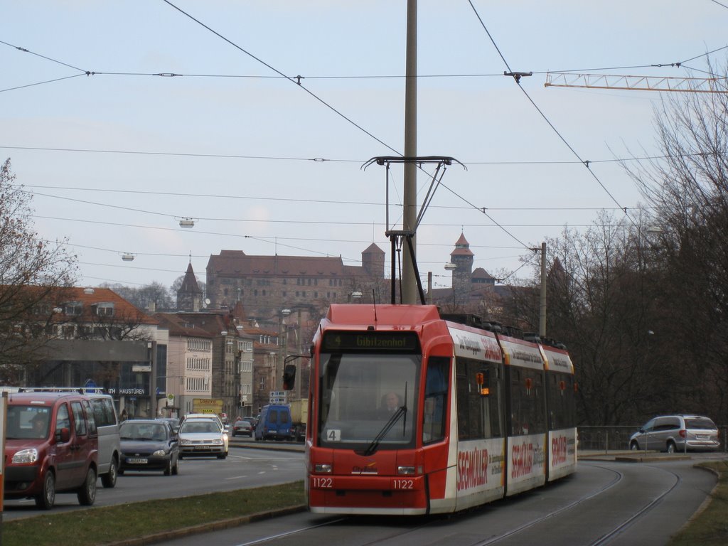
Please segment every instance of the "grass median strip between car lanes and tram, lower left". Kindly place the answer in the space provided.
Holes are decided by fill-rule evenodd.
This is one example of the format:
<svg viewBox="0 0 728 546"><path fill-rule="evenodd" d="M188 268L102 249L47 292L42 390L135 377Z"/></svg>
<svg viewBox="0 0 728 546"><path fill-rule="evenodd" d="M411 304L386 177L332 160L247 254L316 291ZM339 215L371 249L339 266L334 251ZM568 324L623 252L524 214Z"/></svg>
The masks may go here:
<svg viewBox="0 0 728 546"><path fill-rule="evenodd" d="M157 499L5 521L3 546L97 546L302 505L302 481L179 499ZM61 542L63 542L61 540Z"/></svg>

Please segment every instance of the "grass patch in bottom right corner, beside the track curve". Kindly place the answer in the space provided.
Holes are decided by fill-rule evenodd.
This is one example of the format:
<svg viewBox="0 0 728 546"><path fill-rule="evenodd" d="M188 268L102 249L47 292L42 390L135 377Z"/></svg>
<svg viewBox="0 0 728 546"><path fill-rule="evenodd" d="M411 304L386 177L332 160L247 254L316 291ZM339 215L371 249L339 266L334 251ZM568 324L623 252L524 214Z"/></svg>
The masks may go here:
<svg viewBox="0 0 728 546"><path fill-rule="evenodd" d="M700 464L718 474L708 505L676 534L668 546L725 546L728 544L728 461Z"/></svg>

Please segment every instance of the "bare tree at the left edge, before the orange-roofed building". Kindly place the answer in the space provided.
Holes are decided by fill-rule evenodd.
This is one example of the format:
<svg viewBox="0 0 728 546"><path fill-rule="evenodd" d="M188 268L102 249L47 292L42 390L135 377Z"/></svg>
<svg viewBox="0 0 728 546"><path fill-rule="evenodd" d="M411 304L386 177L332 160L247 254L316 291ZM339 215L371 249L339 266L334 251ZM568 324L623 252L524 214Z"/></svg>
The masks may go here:
<svg viewBox="0 0 728 546"><path fill-rule="evenodd" d="M36 363L52 314L48 296L76 277L76 256L64 242L33 232L31 200L7 159L0 167L0 370L6 381Z"/></svg>

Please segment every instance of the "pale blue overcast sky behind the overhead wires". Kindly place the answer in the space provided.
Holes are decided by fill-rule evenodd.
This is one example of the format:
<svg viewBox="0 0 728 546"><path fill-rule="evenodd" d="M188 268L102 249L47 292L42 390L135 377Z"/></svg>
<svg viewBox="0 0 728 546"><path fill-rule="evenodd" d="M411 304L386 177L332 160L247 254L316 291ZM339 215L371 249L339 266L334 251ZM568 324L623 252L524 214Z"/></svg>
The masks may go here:
<svg viewBox="0 0 728 546"><path fill-rule="evenodd" d="M190 258L205 280L223 249L357 265L376 242L389 264L385 170L362 167L403 153L406 4L4 1L0 153L39 237L68 240L90 286L170 285ZM419 227L423 276L450 285L461 232L496 274L566 225L636 207L614 160L657 153L661 93L545 73L705 76L707 52L726 59L726 6L420 0L417 152L467 167L448 167ZM504 71L533 76L521 90ZM390 181L401 229L400 165ZM420 173L419 202L429 185Z"/></svg>

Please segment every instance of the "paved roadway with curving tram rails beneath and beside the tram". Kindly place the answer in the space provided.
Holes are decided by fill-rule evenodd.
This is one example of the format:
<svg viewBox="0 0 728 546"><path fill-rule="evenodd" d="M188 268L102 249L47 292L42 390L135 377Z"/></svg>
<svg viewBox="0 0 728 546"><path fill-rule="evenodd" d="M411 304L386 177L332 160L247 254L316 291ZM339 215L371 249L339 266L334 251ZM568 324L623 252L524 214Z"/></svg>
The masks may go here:
<svg viewBox="0 0 728 546"><path fill-rule="evenodd" d="M695 460L582 461L575 475L545 488L449 518L285 515L167 546L662 546L716 483Z"/></svg>

